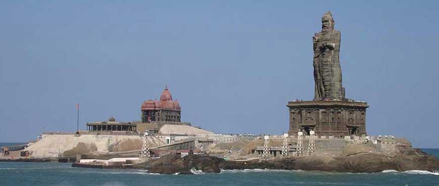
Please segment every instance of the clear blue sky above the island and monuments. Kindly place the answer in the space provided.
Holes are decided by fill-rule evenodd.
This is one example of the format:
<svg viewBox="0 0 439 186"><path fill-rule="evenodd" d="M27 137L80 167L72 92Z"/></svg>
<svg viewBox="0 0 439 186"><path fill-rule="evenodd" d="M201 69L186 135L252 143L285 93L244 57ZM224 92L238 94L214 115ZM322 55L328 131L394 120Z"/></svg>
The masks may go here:
<svg viewBox="0 0 439 186"><path fill-rule="evenodd" d="M2 1L0 141L140 120L168 84L182 120L281 134L313 98L312 36L330 10L346 96L367 132L439 148L437 1Z"/></svg>

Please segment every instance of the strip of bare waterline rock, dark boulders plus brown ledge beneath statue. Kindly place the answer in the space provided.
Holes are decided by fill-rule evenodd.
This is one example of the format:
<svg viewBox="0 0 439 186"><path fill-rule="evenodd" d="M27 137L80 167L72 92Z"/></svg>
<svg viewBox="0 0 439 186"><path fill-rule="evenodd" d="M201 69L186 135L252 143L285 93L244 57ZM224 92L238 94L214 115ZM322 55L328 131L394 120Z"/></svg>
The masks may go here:
<svg viewBox="0 0 439 186"><path fill-rule="evenodd" d="M102 168L73 164L77 167ZM124 168L124 167L112 167ZM226 161L208 155L190 154L183 158L177 154L168 154L158 159L134 164L125 168L145 169L149 173L160 174L193 174L193 170L204 173L219 173L221 169L286 169L286 170L318 170L336 172L381 172L383 170L426 170L437 172L439 159L419 149L407 149L394 154L357 153L348 155L312 155L290 156L286 158L248 161Z"/></svg>

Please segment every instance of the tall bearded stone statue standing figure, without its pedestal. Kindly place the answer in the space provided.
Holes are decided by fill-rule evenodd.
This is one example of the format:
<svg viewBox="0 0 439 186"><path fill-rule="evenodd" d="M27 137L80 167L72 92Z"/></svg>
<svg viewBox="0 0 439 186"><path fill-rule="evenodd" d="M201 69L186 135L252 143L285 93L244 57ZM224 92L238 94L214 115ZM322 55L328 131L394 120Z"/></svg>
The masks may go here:
<svg viewBox="0 0 439 186"><path fill-rule="evenodd" d="M343 99L345 89L342 86L340 67L340 31L334 29L331 12L321 18L321 32L312 37L314 48L314 100Z"/></svg>

